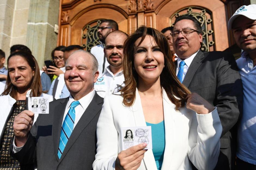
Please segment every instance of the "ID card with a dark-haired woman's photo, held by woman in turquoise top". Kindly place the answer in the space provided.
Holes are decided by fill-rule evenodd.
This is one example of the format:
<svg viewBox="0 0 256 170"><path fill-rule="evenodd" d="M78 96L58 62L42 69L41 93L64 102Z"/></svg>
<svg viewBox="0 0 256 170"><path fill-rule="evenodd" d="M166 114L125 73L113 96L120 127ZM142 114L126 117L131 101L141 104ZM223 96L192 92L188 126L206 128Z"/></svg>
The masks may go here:
<svg viewBox="0 0 256 170"><path fill-rule="evenodd" d="M151 126L122 127L123 150L140 143L147 143L145 149L152 149Z"/></svg>

